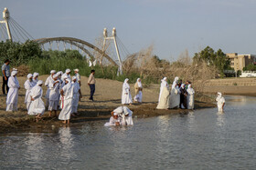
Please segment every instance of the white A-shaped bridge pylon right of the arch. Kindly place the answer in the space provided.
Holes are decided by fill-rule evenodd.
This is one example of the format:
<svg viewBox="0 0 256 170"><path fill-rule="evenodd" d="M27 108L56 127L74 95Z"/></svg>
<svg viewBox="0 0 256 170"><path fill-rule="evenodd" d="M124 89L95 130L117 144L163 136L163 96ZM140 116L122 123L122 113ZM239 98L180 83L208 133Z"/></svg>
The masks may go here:
<svg viewBox="0 0 256 170"><path fill-rule="evenodd" d="M119 61L119 69L118 69L118 74L119 75L123 75L123 65L122 65L122 60L120 57L120 53L119 53L119 49L118 49L118 45L116 43L116 29L115 27L112 28L112 36L108 36L108 31L107 28L104 28L103 30L103 36L104 36L104 41L103 41L103 49L102 51L105 53L106 51L106 41L107 40L113 40L114 46L115 46L115 51L116 51L116 55L118 57L118 61ZM102 58L103 55L101 55L101 61L100 64L102 63Z"/></svg>

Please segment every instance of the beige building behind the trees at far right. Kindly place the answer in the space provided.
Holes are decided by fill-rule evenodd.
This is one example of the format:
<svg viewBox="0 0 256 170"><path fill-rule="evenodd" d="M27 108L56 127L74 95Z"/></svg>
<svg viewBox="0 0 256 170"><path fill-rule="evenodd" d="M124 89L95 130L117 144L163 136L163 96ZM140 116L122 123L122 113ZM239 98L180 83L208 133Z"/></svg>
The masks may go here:
<svg viewBox="0 0 256 170"><path fill-rule="evenodd" d="M230 65L235 71L242 71L243 67L255 64L256 55L238 55L237 53L226 54L230 59Z"/></svg>

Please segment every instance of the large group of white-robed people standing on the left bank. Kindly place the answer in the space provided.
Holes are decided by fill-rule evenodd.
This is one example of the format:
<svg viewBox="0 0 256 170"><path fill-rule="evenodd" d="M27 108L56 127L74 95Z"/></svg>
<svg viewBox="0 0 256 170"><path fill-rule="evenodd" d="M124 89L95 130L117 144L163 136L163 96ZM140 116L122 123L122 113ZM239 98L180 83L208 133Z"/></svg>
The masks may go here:
<svg viewBox="0 0 256 170"><path fill-rule="evenodd" d="M42 100L43 96L43 81L38 80L38 73L28 74L27 81L24 84L26 91L25 103L27 105L27 114L36 115L37 121L45 113L48 108L49 116L52 112L57 115L57 110L61 109L59 120L63 120L66 124L70 115L78 114L78 105L82 97L80 92L80 75L79 69L75 69L75 75L70 77L70 69L66 69L65 74L61 71L50 71L45 85L48 87L46 97L46 105ZM6 98L6 111L17 110L18 89L20 85L16 78L17 70L12 71L9 77L8 86L9 92Z"/></svg>

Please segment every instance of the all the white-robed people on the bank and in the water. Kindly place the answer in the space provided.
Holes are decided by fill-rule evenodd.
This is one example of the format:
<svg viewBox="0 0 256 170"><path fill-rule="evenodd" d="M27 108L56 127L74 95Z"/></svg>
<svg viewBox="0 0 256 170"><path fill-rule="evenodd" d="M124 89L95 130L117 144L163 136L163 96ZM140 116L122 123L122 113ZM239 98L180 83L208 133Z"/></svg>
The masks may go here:
<svg viewBox="0 0 256 170"><path fill-rule="evenodd" d="M38 73L28 74L27 81L24 84L27 90L25 96L25 103L27 105L27 114L36 115L37 120L44 114L46 108L48 108L49 116L54 112L57 115L57 110L61 109L59 114L59 120L63 120L63 123L69 124L70 115L78 115L78 105L80 98L82 97L80 92L80 75L79 69L74 70L75 75L70 77L70 69L66 69L63 74L61 71L50 71L45 85L48 87L46 92L46 105L42 100L43 96L43 81L38 80ZM17 97L18 89L20 85L16 78L17 70L13 70L8 80L9 91L6 98L6 111L17 110ZM171 86L167 83L167 78L164 77L161 80L160 94L158 98L157 109L194 109L194 95L195 91L189 81L186 84L179 82L179 78L176 76ZM132 105L133 100L137 103L143 101L143 85L141 79L138 78L135 85L135 95L132 98L129 79L126 78L123 83L122 92L122 104ZM223 111L225 105L225 99L221 93L218 93L216 99L218 102L219 111ZM133 112L127 106L117 107L112 112L110 122L106 125L133 125L132 119Z"/></svg>

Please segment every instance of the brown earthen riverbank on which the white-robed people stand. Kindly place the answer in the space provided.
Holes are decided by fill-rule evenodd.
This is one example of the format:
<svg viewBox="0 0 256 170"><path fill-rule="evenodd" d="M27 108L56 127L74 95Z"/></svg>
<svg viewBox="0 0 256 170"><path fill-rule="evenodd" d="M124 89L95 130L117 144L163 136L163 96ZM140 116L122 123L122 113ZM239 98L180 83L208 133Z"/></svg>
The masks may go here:
<svg viewBox="0 0 256 170"><path fill-rule="evenodd" d="M40 80L45 81L48 75L39 76ZM5 112L5 95L0 95L0 133L10 132L19 128L37 128L48 129L52 126L58 127L63 124L59 121L57 116L48 117L48 111L45 112L43 118L36 123L35 117L27 115L24 98L26 90L24 83L26 77L18 77L21 89L18 96L18 111ZM122 82L109 79L96 79L96 92L94 95L94 102L89 100L90 88L86 84L88 77L81 77L81 98L79 105L79 116L71 117L71 125L82 123L85 121L109 119L112 110L121 105ZM2 84L2 82L0 82ZM133 84L131 86L131 93L134 96ZM43 85L44 94L46 87ZM159 95L159 85L149 85L144 88L143 104L133 104L128 107L133 111L135 117L148 117L156 115L168 114L186 114L188 110L184 109L170 109L170 110L156 110ZM214 107L213 98L208 96L196 96L195 109ZM59 114L59 111L58 111Z"/></svg>

